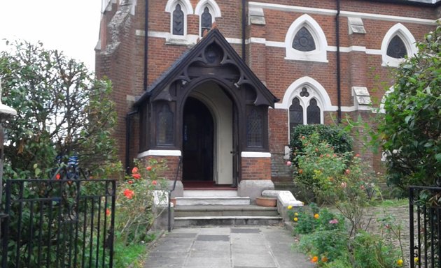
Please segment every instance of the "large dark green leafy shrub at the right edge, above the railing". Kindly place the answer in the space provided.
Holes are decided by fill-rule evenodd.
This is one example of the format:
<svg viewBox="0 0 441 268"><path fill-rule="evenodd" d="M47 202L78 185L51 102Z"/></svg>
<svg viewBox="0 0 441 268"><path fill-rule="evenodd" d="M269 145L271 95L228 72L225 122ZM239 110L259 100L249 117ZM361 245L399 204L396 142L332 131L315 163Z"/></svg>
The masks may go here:
<svg viewBox="0 0 441 268"><path fill-rule="evenodd" d="M400 65L379 124L387 152L387 179L409 185L441 184L441 24Z"/></svg>

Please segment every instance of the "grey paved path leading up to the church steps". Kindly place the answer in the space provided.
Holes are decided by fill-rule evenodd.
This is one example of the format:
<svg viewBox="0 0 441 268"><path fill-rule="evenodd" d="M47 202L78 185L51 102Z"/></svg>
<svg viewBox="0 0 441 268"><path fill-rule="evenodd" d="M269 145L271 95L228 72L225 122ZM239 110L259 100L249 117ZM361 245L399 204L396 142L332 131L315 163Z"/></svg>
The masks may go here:
<svg viewBox="0 0 441 268"><path fill-rule="evenodd" d="M175 229L151 248L144 268L309 268L276 226Z"/></svg>

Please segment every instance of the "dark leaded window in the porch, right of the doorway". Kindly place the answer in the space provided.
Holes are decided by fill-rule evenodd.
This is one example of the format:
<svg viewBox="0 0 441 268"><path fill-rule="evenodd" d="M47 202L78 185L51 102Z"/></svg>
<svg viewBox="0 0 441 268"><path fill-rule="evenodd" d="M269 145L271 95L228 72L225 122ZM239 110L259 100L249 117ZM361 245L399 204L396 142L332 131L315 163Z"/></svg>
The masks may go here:
<svg viewBox="0 0 441 268"><path fill-rule="evenodd" d="M246 144L248 147L263 147L263 117L257 107L251 107L246 118Z"/></svg>

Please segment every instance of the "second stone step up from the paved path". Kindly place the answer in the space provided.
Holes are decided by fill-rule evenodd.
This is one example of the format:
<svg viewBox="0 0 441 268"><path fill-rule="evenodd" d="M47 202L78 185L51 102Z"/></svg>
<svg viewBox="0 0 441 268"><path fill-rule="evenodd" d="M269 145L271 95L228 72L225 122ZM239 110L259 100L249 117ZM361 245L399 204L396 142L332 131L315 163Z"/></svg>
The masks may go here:
<svg viewBox="0 0 441 268"><path fill-rule="evenodd" d="M260 207L257 205L197 205L177 206L174 208L175 217L192 216L279 216L276 207Z"/></svg>

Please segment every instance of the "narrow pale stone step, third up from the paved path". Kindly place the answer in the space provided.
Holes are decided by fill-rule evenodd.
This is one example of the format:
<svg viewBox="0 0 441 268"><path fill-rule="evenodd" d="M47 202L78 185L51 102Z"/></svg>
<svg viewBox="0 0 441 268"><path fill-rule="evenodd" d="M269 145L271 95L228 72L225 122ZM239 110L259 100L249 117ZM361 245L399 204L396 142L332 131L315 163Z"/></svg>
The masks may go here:
<svg viewBox="0 0 441 268"><path fill-rule="evenodd" d="M176 207L195 205L247 205L250 198L237 196L205 196L205 197L179 197L176 198Z"/></svg>

